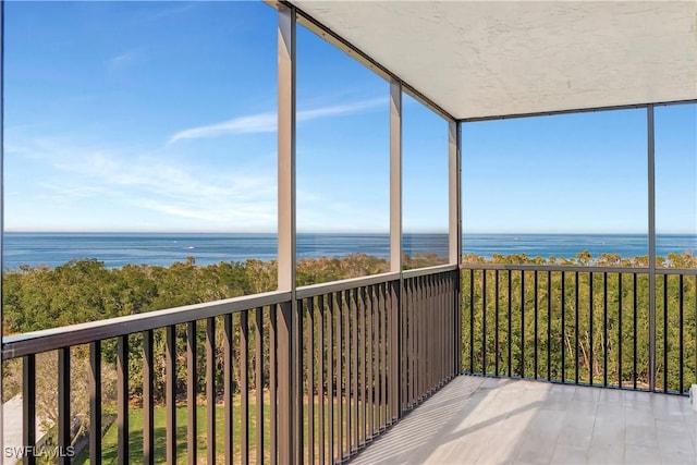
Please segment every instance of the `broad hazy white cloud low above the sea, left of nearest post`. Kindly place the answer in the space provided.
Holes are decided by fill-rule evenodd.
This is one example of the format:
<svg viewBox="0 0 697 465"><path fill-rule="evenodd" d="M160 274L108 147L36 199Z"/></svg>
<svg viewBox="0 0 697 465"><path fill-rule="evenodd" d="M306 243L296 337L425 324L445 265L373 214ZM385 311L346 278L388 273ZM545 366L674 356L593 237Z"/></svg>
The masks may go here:
<svg viewBox="0 0 697 465"><path fill-rule="evenodd" d="M45 216L47 205L38 201L41 195L51 205L65 200L72 215L65 222L75 223L75 228L105 216L109 221L126 221L121 229L148 217L161 229L260 231L276 224L273 172L258 173L244 166L221 172L219 167L205 163L172 161L163 154L134 157L135 149L100 149L65 139L60 144L27 140L24 147L54 170L50 178L35 180L40 189L34 189L28 208L37 218ZM99 200L103 209L94 211L94 204L82 203L88 199ZM16 205L21 200L12 198ZM10 227L20 224L19 213L10 215Z"/></svg>

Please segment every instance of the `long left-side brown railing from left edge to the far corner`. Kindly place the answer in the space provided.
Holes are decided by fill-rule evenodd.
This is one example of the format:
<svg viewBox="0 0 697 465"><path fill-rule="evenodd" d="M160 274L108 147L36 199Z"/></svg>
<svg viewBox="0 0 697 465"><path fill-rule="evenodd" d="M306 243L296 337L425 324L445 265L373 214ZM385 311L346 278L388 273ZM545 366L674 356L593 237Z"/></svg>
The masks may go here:
<svg viewBox="0 0 697 465"><path fill-rule="evenodd" d="M86 365L90 463L346 462L458 374L458 283L433 267L5 336L23 443L37 443L47 370L58 451L80 442Z"/></svg>

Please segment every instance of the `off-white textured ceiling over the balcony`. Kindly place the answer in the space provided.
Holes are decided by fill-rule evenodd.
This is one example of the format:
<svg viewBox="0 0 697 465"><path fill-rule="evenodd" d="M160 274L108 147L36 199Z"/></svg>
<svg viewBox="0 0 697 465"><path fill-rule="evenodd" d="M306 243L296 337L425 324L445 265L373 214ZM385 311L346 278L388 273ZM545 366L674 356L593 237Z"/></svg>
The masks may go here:
<svg viewBox="0 0 697 465"><path fill-rule="evenodd" d="M697 99L695 1L314 1L456 119Z"/></svg>

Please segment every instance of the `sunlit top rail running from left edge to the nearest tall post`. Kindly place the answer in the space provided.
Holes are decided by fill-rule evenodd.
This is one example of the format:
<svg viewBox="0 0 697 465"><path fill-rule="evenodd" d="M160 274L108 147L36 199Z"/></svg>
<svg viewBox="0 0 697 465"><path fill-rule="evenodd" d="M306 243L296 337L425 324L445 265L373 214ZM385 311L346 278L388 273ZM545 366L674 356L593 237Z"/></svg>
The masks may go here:
<svg viewBox="0 0 697 465"><path fill-rule="evenodd" d="M290 292L274 291L9 335L2 338L2 359L87 344L93 341L280 304L290 299Z"/></svg>

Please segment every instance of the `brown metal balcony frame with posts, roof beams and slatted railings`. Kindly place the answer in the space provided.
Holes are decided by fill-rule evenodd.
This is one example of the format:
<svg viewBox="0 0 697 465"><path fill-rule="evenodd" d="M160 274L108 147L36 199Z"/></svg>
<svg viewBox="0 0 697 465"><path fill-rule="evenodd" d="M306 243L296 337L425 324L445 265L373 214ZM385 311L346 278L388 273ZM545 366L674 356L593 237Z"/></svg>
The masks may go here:
<svg viewBox="0 0 697 465"><path fill-rule="evenodd" d="M537 292L539 274L548 273L590 273L604 277L624 273L646 276L649 280L649 380L648 391L667 392L665 387L657 386L657 299L668 298L656 294L657 283L668 280L670 274L681 279L697 280L697 270L665 270L656 265L656 187L655 187L655 122L653 110L657 105L682 105L697 102L697 96L685 95L673 101L632 102L626 105L595 106L585 108L539 111L534 114L559 114L565 112L599 111L607 109L638 108L646 110L648 171L648 237L649 264L640 269L607 269L600 267L554 268L526 266L469 266L462 264L462 209L461 209L461 126L482 119L509 118L508 115L482 115L455 118L433 100L421 94L408 82L403 81L386 65L370 58L370 50L359 50L339 34L314 17L307 2L299 2L306 13L289 2L270 2L278 11L278 290L267 294L237 297L220 302L191 305L186 307L164 309L148 314L134 315L117 319L76 325L66 328L38 331L2 338L0 362L13 358L23 359L23 442L35 444L36 395L33 379L36 376L36 355L48 351L59 354L58 404L60 420L58 428L58 445L68 448L71 443L70 425L70 354L71 347L88 344L90 353L90 433L89 452L91 457L101 455L101 381L100 354L101 343L115 339L118 379L117 427L119 430L118 456L120 463L129 457L129 341L131 334L143 335L144 358L144 461L156 463L155 431L152 419L152 334L154 331L166 333L167 343L167 462L174 463L176 457L176 393L174 370L176 360L175 328L185 326L189 331L188 343L197 322L206 325L207 374L212 372L212 338L217 325L222 325L225 334L225 375L224 375L224 444L225 461L235 457L233 443L241 443L241 460L250 460L249 438L249 390L248 372L253 371L258 382L268 382L271 395L270 421L264 425L270 429L270 442L265 443L264 429L257 427L256 457L268 457L271 463L327 463L345 462L365 449L375 438L384 432L391 425L400 420L407 412L428 399L453 377L464 372L487 375L486 362L481 370L474 363L474 339L469 345L470 359L462 359L463 339L474 338L474 318L470 318L469 334L463 334L463 314L474 315L474 298L469 307L461 307L465 295L461 295L462 280L474 279L475 272L488 270L509 276L519 273L521 280L534 276ZM303 4L304 3L304 4ZM316 13L321 13L321 5ZM330 7L331 9L331 7ZM2 9L0 8L0 14ZM0 16L1 20L1 16ZM298 287L296 285L296 179L295 179L295 47L296 26L303 24L334 44L340 49L356 57L390 83L390 267L384 274L370 276L353 280L316 284ZM1 63L1 60L0 60ZM1 66L1 64L0 64ZM2 70L0 69L0 73ZM417 270L402 269L402 93L407 93L429 109L441 115L448 126L449 159L449 257L448 265ZM534 115L526 114L526 117ZM516 114L514 114L516 115ZM512 115L512 117L514 117ZM519 114L517 114L519 115ZM1 123L1 121L0 121ZM2 124L0 124L0 138ZM465 155L466 156L466 155ZM534 273L534 274L526 274ZM550 280L551 278L548 278ZM563 278L562 278L563 279ZM576 278L578 279L578 278ZM668 282L668 281L665 281ZM592 284L591 284L592 285ZM665 285L664 289L668 286ZM470 291L473 286L469 287ZM497 282L497 290L498 290ZM472 291L474 292L474 291ZM498 292L498 291L497 291ZM636 296L636 294L635 294ZM537 302L537 299L536 299ZM486 304L485 304L486 305ZM498 305L498 301L497 301ZM510 309L509 309L510 310ZM536 308L537 310L537 308ZM607 310L607 303L606 303ZM682 307L681 307L682 311ZM537 314L536 314L537 315ZM486 320L485 320L486 321ZM536 320L537 322L537 320ZM203 325L203 323L201 323ZM485 322L486 327L486 322ZM268 328L268 329L265 329ZM537 328L537 327L536 327ZM235 339L235 330L240 339ZM466 328L465 328L466 330ZM268 331L266 333L265 331ZM257 345L248 346L249 334ZM268 347L261 345L264 335L268 335ZM321 347L316 347L316 340ZM239 341L243 348L233 347ZM563 347L563 345L562 345ZM246 430L242 438L233 437L231 420L232 409L239 408L233 402L232 363L233 353L240 350L243 371L242 406L243 426ZM269 352L268 362L264 358ZM509 340L509 351L510 351ZM563 348L562 348L563 350ZM682 351L682 348L681 348ZM523 352L525 350L523 348ZM255 354L255 363L269 364L269 379L264 379L259 365L249 366L248 355ZM537 366L536 342L536 366ZM607 355L607 354L606 354ZM484 359L486 360L486 350ZM325 358L327 357L327 358ZM549 358L549 357L548 357ZM578 357L576 356L576 362ZM510 363L510 357L509 357ZM607 362L606 362L607 363ZM317 364L317 365L316 365ZM189 371L192 368L189 368ZM192 379L195 376L189 372ZM577 370L577 368L576 368ZM494 376L519 376L526 374L499 370ZM537 369L535 379L538 379ZM553 377L547 378L552 381ZM665 379L665 377L664 377ZM682 387L681 393L686 391ZM558 380L559 381L559 380ZM567 382L562 376L561 382ZM667 381L665 381L667 382ZM192 381L193 383L193 381ZM579 383L576 378L575 383ZM592 383L592 377L590 379ZM208 377L207 391L207 438L208 460L215 461L216 405L212 393L213 381ZM608 382L603 383L608 386ZM625 389L638 389L634 386L620 386ZM256 390L257 418L262 416L262 393ZM317 400L317 401L316 401ZM191 402L191 397L189 397ZM194 397L195 402L195 397ZM340 406L335 408L334 403ZM318 412L315 412L315 408ZM191 412L191 409L189 409ZM335 418L335 416L339 418ZM305 424L307 417L313 420ZM318 425L315 425L318 418ZM189 424L195 418L189 413ZM195 435L187 438L189 451L196 450ZM265 449L268 446L268 450ZM159 457L161 458L161 457ZM98 458L93 458L100 463ZM195 452L189 460L196 461ZM36 457L27 455L25 463L35 463ZM70 463L70 457L63 457Z"/></svg>

